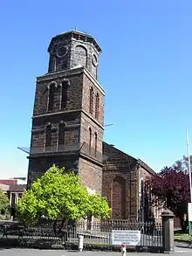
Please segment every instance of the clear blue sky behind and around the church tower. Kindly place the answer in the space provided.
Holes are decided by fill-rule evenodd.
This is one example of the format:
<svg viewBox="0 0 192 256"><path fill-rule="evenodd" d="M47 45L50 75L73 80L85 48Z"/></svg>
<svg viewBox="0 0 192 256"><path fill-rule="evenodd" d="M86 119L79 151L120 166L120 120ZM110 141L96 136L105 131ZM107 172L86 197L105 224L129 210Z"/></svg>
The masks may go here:
<svg viewBox="0 0 192 256"><path fill-rule="evenodd" d="M99 42L105 140L154 170L192 145L192 1L0 0L0 177L25 175L38 75L51 37L75 26Z"/></svg>

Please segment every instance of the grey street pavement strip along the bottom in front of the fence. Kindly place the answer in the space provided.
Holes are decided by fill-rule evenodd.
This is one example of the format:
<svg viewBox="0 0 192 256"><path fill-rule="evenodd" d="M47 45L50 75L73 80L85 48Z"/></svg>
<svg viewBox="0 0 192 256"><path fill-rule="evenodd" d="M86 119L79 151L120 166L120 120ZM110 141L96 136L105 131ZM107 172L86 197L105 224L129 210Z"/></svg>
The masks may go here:
<svg viewBox="0 0 192 256"><path fill-rule="evenodd" d="M190 248L175 248L175 256L189 256ZM118 256L121 253L106 252L68 252L65 250L36 250L36 249L0 249L0 256ZM127 256L160 256L160 253L127 253ZM173 255L173 254L172 254Z"/></svg>

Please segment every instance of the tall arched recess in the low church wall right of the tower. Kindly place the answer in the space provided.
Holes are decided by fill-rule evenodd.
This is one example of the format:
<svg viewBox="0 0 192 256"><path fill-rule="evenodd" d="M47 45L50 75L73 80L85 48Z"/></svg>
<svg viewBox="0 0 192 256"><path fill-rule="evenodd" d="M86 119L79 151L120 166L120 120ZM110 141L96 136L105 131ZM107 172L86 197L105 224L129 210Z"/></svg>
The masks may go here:
<svg viewBox="0 0 192 256"><path fill-rule="evenodd" d="M121 176L113 179L112 197L113 218L126 218L126 180Z"/></svg>

